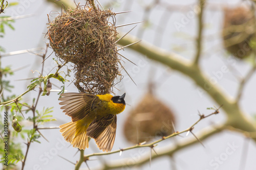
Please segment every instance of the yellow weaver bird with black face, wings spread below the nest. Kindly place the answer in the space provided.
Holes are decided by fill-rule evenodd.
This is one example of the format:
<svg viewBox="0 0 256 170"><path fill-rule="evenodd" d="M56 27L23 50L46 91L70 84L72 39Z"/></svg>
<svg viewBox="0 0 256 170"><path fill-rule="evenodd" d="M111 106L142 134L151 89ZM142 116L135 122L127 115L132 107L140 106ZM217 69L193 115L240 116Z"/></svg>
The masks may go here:
<svg viewBox="0 0 256 170"><path fill-rule="evenodd" d="M72 122L60 125L60 132L73 147L89 147L88 136L95 139L98 148L109 152L116 137L117 114L125 108L124 96L111 94L63 93L59 98L61 109Z"/></svg>

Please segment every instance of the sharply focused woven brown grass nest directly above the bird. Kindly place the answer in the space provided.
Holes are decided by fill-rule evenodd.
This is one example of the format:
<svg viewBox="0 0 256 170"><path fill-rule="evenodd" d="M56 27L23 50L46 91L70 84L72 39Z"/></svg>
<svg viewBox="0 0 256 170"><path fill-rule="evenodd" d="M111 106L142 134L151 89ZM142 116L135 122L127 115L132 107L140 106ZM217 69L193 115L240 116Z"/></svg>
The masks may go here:
<svg viewBox="0 0 256 170"><path fill-rule="evenodd" d="M113 81L120 75L115 13L78 4L75 10L62 10L49 22L50 45L60 61L73 63L78 90L112 92Z"/></svg>

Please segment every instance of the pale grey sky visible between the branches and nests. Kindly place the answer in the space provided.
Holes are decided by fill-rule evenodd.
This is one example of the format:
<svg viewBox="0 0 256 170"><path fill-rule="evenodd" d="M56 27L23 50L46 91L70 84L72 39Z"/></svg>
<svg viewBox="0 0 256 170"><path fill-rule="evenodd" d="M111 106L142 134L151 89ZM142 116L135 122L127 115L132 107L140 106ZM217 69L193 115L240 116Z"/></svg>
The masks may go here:
<svg viewBox="0 0 256 170"><path fill-rule="evenodd" d="M15 2L15 1L9 1ZM13 23L15 31L6 28L6 35L4 38L0 39L0 45L6 49L6 53L26 50L35 47L45 47L45 43L48 40L45 38L45 33L47 32L48 18L47 14L51 11L58 11L60 9L54 6L53 4L47 3L42 0L24 0L19 1L18 6L13 6L7 8L5 11L6 15L16 16L16 15L28 15L35 14L35 16L18 19ZM79 1L76 1L79 2ZM117 25L124 23L130 23L135 21L143 20L144 7L147 3L152 1L100 1L102 5L106 2L113 3L113 11L120 12L131 10L132 12L126 14L119 14L117 18ZM191 11L191 8L197 1L163 1L168 2L170 5L175 5L175 9L170 9L169 12L163 12L163 6L157 6L152 13L150 13L150 27L146 28L143 35L139 35L142 40L153 43L157 46L160 46L168 51L173 51L182 55L187 59L191 59L195 53L195 35L197 34L197 17L193 17L188 20L188 23L184 25L180 30L177 30L174 23L180 22L184 15L187 15L187 12ZM204 35L207 39L204 39L203 43L203 59L201 65L203 69L211 76L214 77L214 72L221 70L223 65L231 65L237 70L239 70L241 75L245 75L249 70L250 65L246 62L228 62L226 53L222 50L222 41L220 37L220 29L222 28L222 18L223 12L221 10L221 5L232 6L232 5L241 5L242 1L208 1L211 5L214 5L214 8L206 9L204 15L205 30ZM84 1L81 1L81 4L84 4ZM184 6L186 5L186 7ZM180 8L177 8L180 6ZM56 12L53 12L56 13ZM1 14L2 16L2 14ZM54 18L53 15L51 20ZM164 22L161 22L161 19ZM162 34L156 33L159 23L165 28L162 31ZM138 26L130 33L132 35L138 36L139 30L141 29L142 24ZM133 26L127 26L125 28L118 29L121 32L129 31ZM162 37L161 37L162 36ZM159 37L160 39L156 39ZM162 39L161 39L162 38ZM48 55L52 52L49 49ZM112 151L115 151L119 148L129 147L132 144L127 142L122 134L122 125L123 122L129 113L129 111L136 106L136 103L140 101L143 94L146 92L148 75L150 70L154 69L155 82L157 84L156 97L160 99L163 103L169 106L172 109L177 118L176 129L182 131L188 128L190 125L196 122L198 117L198 110L201 113L209 114L211 111L206 110L207 107L213 107L216 105L209 96L204 93L200 95L198 92L198 87L192 82L189 78L180 74L179 72L172 71L162 64L155 63L146 59L144 56L129 50L125 49L122 54L132 60L135 63L142 63L140 67L133 65L130 62L124 64L126 70L128 70L133 79L136 82L137 86L127 78L127 75L122 71L124 75L124 80L120 85L123 85L120 88L120 92L115 91L117 94L122 94L126 92L125 101L131 106L127 106L124 112L118 115L117 120L117 134L116 140ZM52 69L54 65L52 58L54 54L51 55L46 60L46 71L48 72ZM31 70L41 70L41 58L32 54L21 54L9 57L2 58L2 67L6 65L11 65L13 69L22 67L26 65L26 68L15 72L14 76L8 77L11 79L11 83L14 84L15 88L13 89L14 94L21 94L26 91L29 81L17 81L18 79L26 79L31 77L37 77L38 74L35 72L32 74ZM47 72L47 73L48 73ZM72 79L70 79L72 80ZM57 81L52 81L53 83ZM238 89L238 82L233 74L229 71L223 74L221 79L218 79L218 83L223 87L226 93L234 96L236 95ZM58 86L61 86L61 83L56 83ZM68 85L69 83L66 83ZM256 99L256 76L251 78L251 80L246 85L245 91L242 96L241 106L248 114L255 114L255 99ZM53 89L57 89L53 86ZM71 84L66 89L70 92L76 92L76 87ZM37 90L37 89L36 89ZM37 96L37 92L33 91L24 96L24 102L30 102L32 98ZM51 92L50 96L41 96L39 100L38 110L42 110L43 107L53 107L54 112L53 116L57 118L57 122L45 124L45 127L49 126L59 126L64 123L70 122L70 117L66 116L60 110L58 105L58 95L56 92ZM217 106L218 107L218 106ZM29 113L25 115L27 118ZM30 115L31 116L31 115ZM194 132L200 131L204 127L209 126L210 124L218 124L225 120L225 114L220 110L219 115L211 116L207 119L202 120L196 127ZM25 123L27 128L31 128L31 124ZM25 127L26 128L26 127ZM47 142L44 138L39 138L39 143L32 143L29 154L26 161L25 169L74 169L74 165L68 161L63 160L58 157L60 155L69 159L72 162L76 162L79 159L79 154L74 154L77 152L77 149L70 147L70 144L66 141L63 141L62 144L59 144L59 140L62 141L62 136L59 133L58 129L55 130L41 130L41 133L46 136L50 141ZM185 140L185 134L182 137L175 137L175 140ZM192 137L191 134L188 137ZM162 141L155 148L156 152L158 149L165 147L169 144L175 142L175 140L168 139ZM246 156L245 168L248 170L255 169L256 167L256 145L255 142L249 141L248 151L246 155L243 155L243 144L245 138L238 133L233 132L223 132L204 140L203 143L206 148L203 148L200 143L193 145L192 147L186 148L175 154L175 162L171 162L168 157L161 157L152 162L151 167L149 163L131 169L171 169L171 164L175 163L177 169L197 169L197 170L213 170L213 169L239 169L240 160L242 157ZM216 157L220 157L223 153L226 152L229 144L235 144L238 146L237 149L222 162L219 164L218 168L210 165L212 160L215 160ZM56 147L57 144L57 147ZM90 148L85 151L85 154L90 154L93 152L102 152L99 151L96 147L96 144L93 140L90 141ZM26 145L23 144L24 153L26 150ZM57 151L57 153L51 157L47 158L45 154L47 152ZM150 149L143 148L142 152L146 155L149 155ZM108 156L101 157L92 157L93 161L88 161L88 164L91 169L97 168L100 165L100 159L105 161L119 161L120 159L133 158L137 155L138 150L129 150L119 154L112 154ZM41 159L39 159L39 157ZM19 162L19 166L20 166ZM40 168L36 168L39 166ZM20 166L21 167L21 166ZM82 164L80 169L87 169L86 164ZM129 168L126 168L129 169Z"/></svg>

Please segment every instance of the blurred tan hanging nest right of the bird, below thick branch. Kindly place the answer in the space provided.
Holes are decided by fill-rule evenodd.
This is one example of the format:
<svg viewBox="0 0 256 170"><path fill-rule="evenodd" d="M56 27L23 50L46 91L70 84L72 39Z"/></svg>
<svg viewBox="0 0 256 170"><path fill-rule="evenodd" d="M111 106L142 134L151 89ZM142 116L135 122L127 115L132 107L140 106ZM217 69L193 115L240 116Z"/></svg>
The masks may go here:
<svg viewBox="0 0 256 170"><path fill-rule="evenodd" d="M126 118L124 136L135 144L150 141L157 136L172 134L172 123L175 124L174 113L148 92Z"/></svg>

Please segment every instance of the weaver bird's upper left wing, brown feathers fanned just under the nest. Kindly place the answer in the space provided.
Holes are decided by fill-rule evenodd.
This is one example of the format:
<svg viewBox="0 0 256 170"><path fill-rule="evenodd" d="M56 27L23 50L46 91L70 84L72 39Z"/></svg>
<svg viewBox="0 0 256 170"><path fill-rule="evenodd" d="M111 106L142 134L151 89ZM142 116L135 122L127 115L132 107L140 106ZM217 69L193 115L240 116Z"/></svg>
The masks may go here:
<svg viewBox="0 0 256 170"><path fill-rule="evenodd" d="M60 109L64 109L68 116L72 117L72 122L77 122L78 120L86 117L94 109L95 104L99 102L99 98L94 94L87 93L63 93L60 94L62 98L59 98Z"/></svg>

